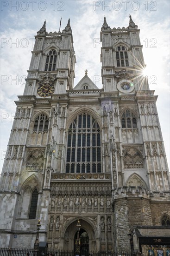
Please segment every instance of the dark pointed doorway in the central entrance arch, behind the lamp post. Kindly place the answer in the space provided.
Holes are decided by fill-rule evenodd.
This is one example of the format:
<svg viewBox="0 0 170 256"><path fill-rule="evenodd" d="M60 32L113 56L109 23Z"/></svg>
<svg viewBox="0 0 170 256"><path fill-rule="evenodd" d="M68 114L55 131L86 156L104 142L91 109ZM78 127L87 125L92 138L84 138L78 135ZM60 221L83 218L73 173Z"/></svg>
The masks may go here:
<svg viewBox="0 0 170 256"><path fill-rule="evenodd" d="M76 232L75 237L74 237L74 251L76 250L77 232ZM86 230L80 229L79 236L80 236L80 254L88 256L88 251L89 251L88 233L86 232Z"/></svg>

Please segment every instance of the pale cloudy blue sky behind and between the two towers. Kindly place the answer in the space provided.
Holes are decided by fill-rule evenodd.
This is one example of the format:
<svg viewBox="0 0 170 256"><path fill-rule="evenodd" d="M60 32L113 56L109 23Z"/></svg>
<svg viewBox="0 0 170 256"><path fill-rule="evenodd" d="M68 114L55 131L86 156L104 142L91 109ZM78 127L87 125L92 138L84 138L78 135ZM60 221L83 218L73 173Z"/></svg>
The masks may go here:
<svg viewBox="0 0 170 256"><path fill-rule="evenodd" d="M74 86L88 70L98 88L101 83L100 31L107 24L127 27L129 14L140 29L140 40L157 111L168 164L170 163L170 1L169 0L1 0L0 1L0 169L13 124L17 95L22 95L31 61L34 35L46 20L48 33L61 31L70 18L76 52ZM95 42L97 42L95 44ZM96 76L99 81L96 81Z"/></svg>

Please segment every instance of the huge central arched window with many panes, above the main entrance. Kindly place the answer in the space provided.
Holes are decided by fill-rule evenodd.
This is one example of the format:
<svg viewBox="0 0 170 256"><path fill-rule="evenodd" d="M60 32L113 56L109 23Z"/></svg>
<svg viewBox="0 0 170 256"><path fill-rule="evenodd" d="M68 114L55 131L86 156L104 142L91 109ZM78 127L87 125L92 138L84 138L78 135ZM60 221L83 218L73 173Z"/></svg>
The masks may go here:
<svg viewBox="0 0 170 256"><path fill-rule="evenodd" d="M68 131L66 173L101 172L101 130L92 115L77 115Z"/></svg>

